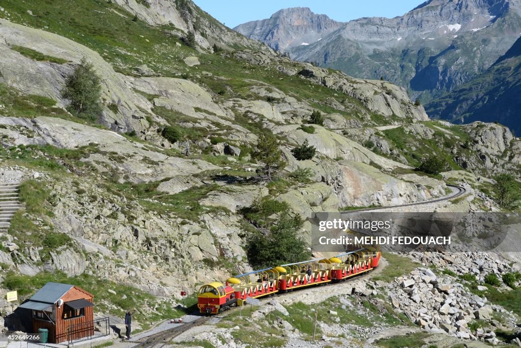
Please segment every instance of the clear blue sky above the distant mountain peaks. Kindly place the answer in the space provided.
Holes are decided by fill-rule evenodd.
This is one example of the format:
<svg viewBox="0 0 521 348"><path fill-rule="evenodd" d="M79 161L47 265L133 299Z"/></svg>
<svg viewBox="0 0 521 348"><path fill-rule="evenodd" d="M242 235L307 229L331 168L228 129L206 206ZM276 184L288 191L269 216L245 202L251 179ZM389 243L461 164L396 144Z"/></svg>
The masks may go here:
<svg viewBox="0 0 521 348"><path fill-rule="evenodd" d="M233 28L251 20L269 18L288 7L309 7L316 14L347 22L360 17L396 17L412 10L425 0L193 0L212 17Z"/></svg>

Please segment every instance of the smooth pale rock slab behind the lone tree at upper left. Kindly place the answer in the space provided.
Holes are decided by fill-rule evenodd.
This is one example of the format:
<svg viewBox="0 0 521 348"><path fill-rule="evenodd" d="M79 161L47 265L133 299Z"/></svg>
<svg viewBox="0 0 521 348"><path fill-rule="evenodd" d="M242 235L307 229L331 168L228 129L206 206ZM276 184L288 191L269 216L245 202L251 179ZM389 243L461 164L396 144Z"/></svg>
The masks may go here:
<svg viewBox="0 0 521 348"><path fill-rule="evenodd" d="M0 82L13 86L27 94L43 95L64 106L60 90L65 77L84 57L94 65L103 77L102 97L118 106L118 113L103 110L101 121L108 127L126 132L141 131L148 126L145 112L150 111L150 103L140 94L128 88L128 78L114 71L98 53L81 44L43 30L32 29L0 19ZM56 64L35 61L13 51L11 46L28 47L40 53L65 59L70 63Z"/></svg>

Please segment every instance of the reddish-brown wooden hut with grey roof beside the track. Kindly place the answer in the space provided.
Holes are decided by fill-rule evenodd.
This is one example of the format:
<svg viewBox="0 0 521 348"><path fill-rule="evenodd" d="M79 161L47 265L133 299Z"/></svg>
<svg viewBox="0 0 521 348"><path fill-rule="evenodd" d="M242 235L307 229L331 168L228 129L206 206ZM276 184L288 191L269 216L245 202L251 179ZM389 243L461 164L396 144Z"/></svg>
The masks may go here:
<svg viewBox="0 0 521 348"><path fill-rule="evenodd" d="M48 342L60 343L93 335L93 297L76 285L48 282L19 307L32 311L32 332L48 329Z"/></svg>

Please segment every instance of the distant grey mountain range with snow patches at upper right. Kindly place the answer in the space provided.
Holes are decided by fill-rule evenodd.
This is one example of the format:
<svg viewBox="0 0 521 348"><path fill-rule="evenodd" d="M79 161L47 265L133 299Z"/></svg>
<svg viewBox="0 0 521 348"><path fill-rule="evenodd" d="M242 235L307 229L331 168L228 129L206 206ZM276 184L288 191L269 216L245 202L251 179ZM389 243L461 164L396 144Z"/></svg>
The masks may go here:
<svg viewBox="0 0 521 348"><path fill-rule="evenodd" d="M427 102L468 82L502 56L521 32L520 11L518 0L429 0L403 16L353 20L322 35L321 40L309 45L294 41L285 50L297 60L316 61L351 76L382 76L406 87L413 98L419 96ZM282 13L292 18L302 9ZM287 28L275 38L288 42L287 36L298 32L295 28L306 28L310 23L299 21L292 27L262 20L236 29L275 48L278 42L264 33ZM274 27L269 28L270 24ZM258 27L264 29L253 30Z"/></svg>

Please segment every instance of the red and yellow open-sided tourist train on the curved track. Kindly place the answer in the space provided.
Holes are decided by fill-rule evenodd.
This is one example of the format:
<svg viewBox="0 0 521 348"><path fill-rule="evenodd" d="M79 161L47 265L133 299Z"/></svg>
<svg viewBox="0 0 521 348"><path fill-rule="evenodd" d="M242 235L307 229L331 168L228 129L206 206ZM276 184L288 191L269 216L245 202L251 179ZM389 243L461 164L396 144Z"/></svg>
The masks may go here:
<svg viewBox="0 0 521 348"><path fill-rule="evenodd" d="M200 288L197 307L202 314L218 314L249 299L344 281L375 269L380 257L380 251L360 248L331 258L259 269L228 278L226 284L211 282Z"/></svg>

